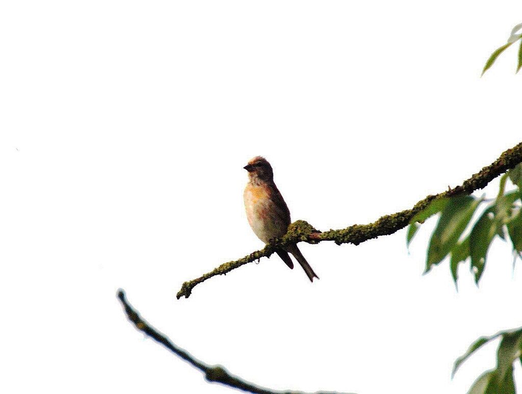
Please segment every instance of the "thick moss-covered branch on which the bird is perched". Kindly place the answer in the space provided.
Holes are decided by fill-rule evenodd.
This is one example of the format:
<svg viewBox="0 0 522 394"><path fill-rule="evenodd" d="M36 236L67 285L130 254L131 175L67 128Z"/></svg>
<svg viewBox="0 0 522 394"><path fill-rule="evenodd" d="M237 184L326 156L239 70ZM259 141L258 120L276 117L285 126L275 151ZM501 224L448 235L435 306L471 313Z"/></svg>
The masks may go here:
<svg viewBox="0 0 522 394"><path fill-rule="evenodd" d="M375 222L370 224L354 224L346 229L340 230L329 230L320 232L315 230L309 223L304 220L298 220L290 224L288 232L279 240L274 243L265 246L261 250L257 250L250 255L247 255L239 260L229 261L221 264L219 267L213 269L210 272L205 273L203 276L193 279L188 282L184 282L179 292L177 292L177 299L182 296L188 298L194 287L212 278L216 275L226 274L233 269L239 268L242 265L259 260L262 257L270 257L277 248L299 242L307 242L316 244L322 241L334 241L337 245L341 244L353 244L359 245L360 243L377 238L381 235L390 235L396 231L405 228L411 218L418 212L426 208L431 201L440 197L452 197L456 195L471 194L475 190L485 187L494 178L506 172L509 169L514 168L518 163L522 162L522 142L515 147L506 150L501 156L496 159L493 163L484 167L478 173L471 176L468 180L464 181L462 185L450 188L445 192L437 195L430 195L423 200L420 200L411 209L405 211L385 215Z"/></svg>

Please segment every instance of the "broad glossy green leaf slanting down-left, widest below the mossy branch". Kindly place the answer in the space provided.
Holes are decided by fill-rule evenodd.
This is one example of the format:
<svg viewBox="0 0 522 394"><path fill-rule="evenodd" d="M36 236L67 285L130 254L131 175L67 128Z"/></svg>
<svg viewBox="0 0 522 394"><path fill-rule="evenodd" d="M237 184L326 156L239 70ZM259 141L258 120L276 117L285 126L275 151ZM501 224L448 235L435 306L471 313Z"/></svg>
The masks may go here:
<svg viewBox="0 0 522 394"><path fill-rule="evenodd" d="M431 236L424 272L440 263L453 249L481 201L471 196L458 196L447 202Z"/></svg>

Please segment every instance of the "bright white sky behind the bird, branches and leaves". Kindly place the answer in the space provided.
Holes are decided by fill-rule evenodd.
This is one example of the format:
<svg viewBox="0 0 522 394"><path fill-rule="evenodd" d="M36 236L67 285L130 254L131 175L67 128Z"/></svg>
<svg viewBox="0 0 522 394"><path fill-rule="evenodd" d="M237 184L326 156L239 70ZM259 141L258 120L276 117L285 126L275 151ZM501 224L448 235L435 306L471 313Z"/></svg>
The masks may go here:
<svg viewBox="0 0 522 394"><path fill-rule="evenodd" d="M516 145L515 1L2 2L0 391L227 393L131 326L116 300L207 363L271 388L464 393L481 335L522 325L520 263L496 241L480 289L422 276L426 223L360 246L260 247L246 161L292 219L369 223ZM496 192L494 183L486 190ZM522 387L522 370L516 369Z"/></svg>

